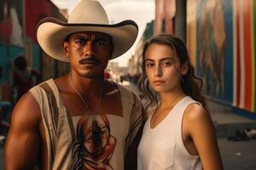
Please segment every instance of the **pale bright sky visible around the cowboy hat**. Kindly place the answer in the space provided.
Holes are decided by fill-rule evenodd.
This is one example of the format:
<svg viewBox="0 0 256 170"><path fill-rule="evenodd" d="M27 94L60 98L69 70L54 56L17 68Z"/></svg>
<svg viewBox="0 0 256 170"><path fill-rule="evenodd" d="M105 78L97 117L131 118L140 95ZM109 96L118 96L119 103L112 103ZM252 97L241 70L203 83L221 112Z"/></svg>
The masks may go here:
<svg viewBox="0 0 256 170"><path fill-rule="evenodd" d="M67 8L72 11L79 0L51 0L59 8ZM137 42L143 35L146 25L154 20L154 0L99 0L108 14L111 24L122 20L134 20L139 27L137 41L124 55L111 61L118 62L120 66L126 66L128 59L135 53Z"/></svg>

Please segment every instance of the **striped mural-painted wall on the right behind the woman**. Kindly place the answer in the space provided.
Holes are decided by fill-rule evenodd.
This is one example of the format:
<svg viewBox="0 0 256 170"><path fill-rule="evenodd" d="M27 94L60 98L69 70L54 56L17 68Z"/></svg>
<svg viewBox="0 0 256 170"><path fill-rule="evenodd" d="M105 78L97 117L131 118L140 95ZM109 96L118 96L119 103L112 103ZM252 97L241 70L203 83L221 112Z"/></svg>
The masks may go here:
<svg viewBox="0 0 256 170"><path fill-rule="evenodd" d="M256 1L188 0L187 44L205 93L256 113Z"/></svg>

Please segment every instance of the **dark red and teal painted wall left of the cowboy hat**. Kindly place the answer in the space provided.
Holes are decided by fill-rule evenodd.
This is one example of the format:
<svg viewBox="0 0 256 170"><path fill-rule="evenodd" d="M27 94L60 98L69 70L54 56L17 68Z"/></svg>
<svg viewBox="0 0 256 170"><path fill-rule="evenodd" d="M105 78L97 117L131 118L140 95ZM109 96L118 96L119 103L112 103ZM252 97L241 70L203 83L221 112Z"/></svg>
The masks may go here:
<svg viewBox="0 0 256 170"><path fill-rule="evenodd" d="M0 0L0 65L3 79L9 77L11 60L26 56L28 65L41 71L43 80L63 75L68 65L42 52L36 39L38 21L46 16L67 20L50 0Z"/></svg>

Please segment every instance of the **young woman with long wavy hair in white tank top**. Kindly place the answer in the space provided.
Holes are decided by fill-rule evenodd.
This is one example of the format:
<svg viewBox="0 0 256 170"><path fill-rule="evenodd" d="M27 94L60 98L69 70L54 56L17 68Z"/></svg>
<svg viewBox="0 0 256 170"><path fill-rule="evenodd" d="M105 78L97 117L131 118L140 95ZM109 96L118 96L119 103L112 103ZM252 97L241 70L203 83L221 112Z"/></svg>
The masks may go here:
<svg viewBox="0 0 256 170"><path fill-rule="evenodd" d="M159 35L143 48L140 90L149 103L138 146L138 169L223 169L212 120L187 48Z"/></svg>

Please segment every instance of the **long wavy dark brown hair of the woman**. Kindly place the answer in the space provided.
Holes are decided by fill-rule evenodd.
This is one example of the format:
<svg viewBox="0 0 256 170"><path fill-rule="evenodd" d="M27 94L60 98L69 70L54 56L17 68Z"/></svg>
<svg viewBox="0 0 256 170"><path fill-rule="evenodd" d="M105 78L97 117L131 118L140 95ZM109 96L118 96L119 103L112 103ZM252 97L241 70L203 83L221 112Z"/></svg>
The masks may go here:
<svg viewBox="0 0 256 170"><path fill-rule="evenodd" d="M144 108L148 111L148 107L158 103L158 94L150 87L148 77L145 70L145 53L148 47L153 44L167 45L179 58L180 64L183 65L185 62L188 63L188 71L186 75L182 75L181 86L184 94L189 95L192 99L200 102L204 107L206 106L205 99L201 95L202 80L199 77L195 77L195 70L190 64L188 50L181 39L174 37L169 34L160 34L152 37L145 42L143 47L143 54L141 55L141 65L143 68L142 77L138 83L138 88L145 97Z"/></svg>

